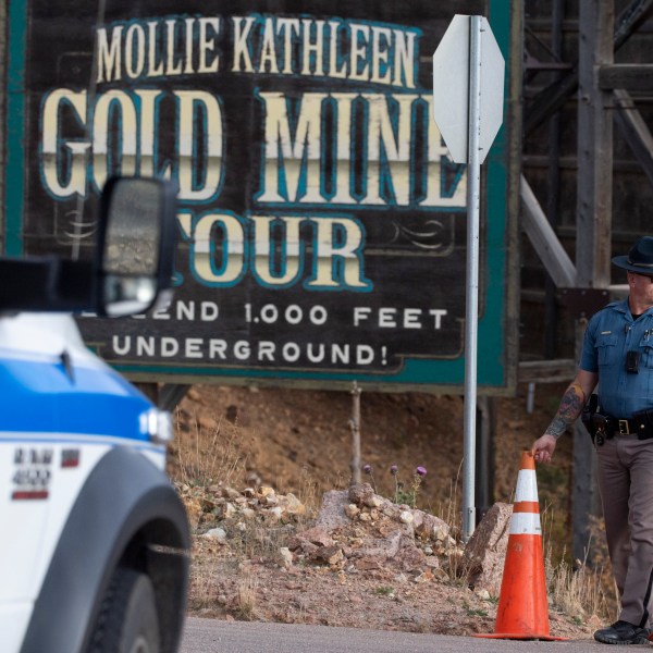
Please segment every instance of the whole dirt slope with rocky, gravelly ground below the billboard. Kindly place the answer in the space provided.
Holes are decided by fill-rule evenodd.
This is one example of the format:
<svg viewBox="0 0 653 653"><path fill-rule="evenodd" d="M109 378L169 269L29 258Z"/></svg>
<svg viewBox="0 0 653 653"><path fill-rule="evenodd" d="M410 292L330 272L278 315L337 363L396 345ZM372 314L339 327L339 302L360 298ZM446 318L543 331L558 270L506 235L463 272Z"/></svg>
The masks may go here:
<svg viewBox="0 0 653 653"><path fill-rule="evenodd" d="M527 411L526 387L516 398L496 401L495 501L510 503L520 452L543 432L563 390L539 386L532 412ZM346 528L310 530L324 493L349 485L352 407L347 392L189 391L175 411L170 470L196 535L190 612L226 619L492 632L497 596L475 592L452 572L461 553L454 544L461 397L364 392L361 464L371 473L364 473L362 481L387 497L387 508L365 508L368 516L353 516ZM556 466L538 471L539 492L545 530L564 541L570 438L560 442L556 457ZM417 467L426 476L412 494ZM401 555L364 555L399 546L393 529L403 508L395 503L410 502L418 513L451 525L449 535L435 541L404 532ZM308 543L301 540L305 531L312 533L312 540L306 535ZM552 633L590 637L596 617L577 607L571 612L552 604Z"/></svg>

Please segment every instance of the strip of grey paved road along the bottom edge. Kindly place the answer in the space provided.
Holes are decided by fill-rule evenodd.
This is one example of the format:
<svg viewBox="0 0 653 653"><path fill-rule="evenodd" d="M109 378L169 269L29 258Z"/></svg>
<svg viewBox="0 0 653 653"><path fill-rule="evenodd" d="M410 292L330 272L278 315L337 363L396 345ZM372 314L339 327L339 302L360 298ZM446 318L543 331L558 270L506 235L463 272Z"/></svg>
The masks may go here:
<svg viewBox="0 0 653 653"><path fill-rule="evenodd" d="M640 646L637 646L641 649ZM181 653L603 653L592 639L522 642L295 624L186 619Z"/></svg>

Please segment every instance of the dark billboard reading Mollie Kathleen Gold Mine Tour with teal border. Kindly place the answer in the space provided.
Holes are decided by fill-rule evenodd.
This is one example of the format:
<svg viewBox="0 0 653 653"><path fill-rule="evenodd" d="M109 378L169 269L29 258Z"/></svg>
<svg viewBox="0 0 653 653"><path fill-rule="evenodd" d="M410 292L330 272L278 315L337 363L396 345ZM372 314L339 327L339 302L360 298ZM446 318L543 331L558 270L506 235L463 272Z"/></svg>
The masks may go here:
<svg viewBox="0 0 653 653"><path fill-rule="evenodd" d="M494 4L507 50L508 10ZM110 364L186 383L461 385L466 168L432 120L431 54L454 13L488 9L10 3L5 252L85 256L110 175L170 177L172 301L79 319ZM479 382L498 391L512 356L506 151L502 131L481 243Z"/></svg>

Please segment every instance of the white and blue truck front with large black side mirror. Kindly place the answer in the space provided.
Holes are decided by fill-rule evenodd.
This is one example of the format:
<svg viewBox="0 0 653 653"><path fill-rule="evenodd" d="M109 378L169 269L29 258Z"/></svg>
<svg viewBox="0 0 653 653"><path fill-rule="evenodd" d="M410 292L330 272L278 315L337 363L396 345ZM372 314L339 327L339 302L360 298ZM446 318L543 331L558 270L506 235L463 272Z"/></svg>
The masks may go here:
<svg viewBox="0 0 653 653"><path fill-rule="evenodd" d="M85 346L71 313L170 287L175 193L111 180L94 261L0 259L0 651L177 650L189 533L170 415Z"/></svg>

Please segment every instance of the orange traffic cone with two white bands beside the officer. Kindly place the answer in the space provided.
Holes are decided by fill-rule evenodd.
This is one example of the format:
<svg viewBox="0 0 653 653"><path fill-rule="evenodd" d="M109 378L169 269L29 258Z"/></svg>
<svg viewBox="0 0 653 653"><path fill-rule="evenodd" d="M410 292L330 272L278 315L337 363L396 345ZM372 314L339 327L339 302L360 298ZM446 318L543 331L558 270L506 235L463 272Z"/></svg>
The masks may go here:
<svg viewBox="0 0 653 653"><path fill-rule="evenodd" d="M538 481L530 452L521 453L494 633L475 637L565 639L549 633Z"/></svg>

